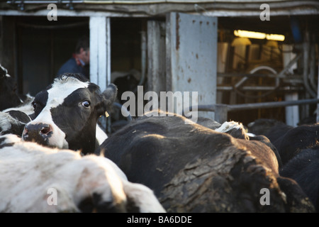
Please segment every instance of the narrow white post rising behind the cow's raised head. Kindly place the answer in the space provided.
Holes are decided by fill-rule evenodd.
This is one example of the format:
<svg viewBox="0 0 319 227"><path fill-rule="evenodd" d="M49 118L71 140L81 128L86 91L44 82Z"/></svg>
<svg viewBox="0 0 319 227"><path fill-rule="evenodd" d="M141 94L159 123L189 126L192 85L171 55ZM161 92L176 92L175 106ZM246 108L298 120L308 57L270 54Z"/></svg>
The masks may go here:
<svg viewBox="0 0 319 227"><path fill-rule="evenodd" d="M110 18L90 17L90 80L103 92L111 82Z"/></svg>

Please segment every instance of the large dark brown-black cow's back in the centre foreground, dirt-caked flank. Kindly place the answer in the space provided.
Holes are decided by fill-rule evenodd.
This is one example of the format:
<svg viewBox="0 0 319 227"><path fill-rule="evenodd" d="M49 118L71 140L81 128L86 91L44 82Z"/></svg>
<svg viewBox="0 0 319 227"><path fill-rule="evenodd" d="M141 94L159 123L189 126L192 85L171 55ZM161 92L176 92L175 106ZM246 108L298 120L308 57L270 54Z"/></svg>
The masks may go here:
<svg viewBox="0 0 319 227"><path fill-rule="evenodd" d="M178 115L138 118L96 154L103 151L128 180L150 187L169 212L314 211L298 184L279 176L276 155L264 143L269 140L235 138L223 132L234 128L227 124L212 130L186 121Z"/></svg>

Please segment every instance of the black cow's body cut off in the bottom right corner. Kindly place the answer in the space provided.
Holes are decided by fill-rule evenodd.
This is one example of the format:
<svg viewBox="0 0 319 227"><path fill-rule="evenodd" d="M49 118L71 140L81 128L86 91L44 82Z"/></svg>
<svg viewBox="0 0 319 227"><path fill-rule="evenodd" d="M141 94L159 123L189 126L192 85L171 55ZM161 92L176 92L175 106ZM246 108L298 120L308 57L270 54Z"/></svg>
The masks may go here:
<svg viewBox="0 0 319 227"><path fill-rule="evenodd" d="M319 147L301 150L284 165L280 175L296 180L319 212Z"/></svg>

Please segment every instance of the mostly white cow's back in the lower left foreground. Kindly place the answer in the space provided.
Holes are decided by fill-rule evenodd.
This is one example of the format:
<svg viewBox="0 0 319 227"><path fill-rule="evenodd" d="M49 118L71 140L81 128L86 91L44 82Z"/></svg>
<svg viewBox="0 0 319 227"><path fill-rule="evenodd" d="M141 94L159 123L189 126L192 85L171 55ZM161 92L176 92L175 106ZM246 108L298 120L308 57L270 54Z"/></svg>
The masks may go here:
<svg viewBox="0 0 319 227"><path fill-rule="evenodd" d="M111 160L0 136L0 212L165 212Z"/></svg>

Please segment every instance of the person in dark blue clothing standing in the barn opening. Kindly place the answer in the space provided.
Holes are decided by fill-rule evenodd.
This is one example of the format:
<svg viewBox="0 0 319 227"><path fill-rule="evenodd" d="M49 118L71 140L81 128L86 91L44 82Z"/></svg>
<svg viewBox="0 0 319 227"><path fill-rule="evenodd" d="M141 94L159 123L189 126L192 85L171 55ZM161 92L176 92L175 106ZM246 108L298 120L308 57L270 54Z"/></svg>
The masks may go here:
<svg viewBox="0 0 319 227"><path fill-rule="evenodd" d="M81 73L89 79L89 62L90 62L90 47L89 38L83 36L77 41L75 52L72 57L60 67L57 74Z"/></svg>

